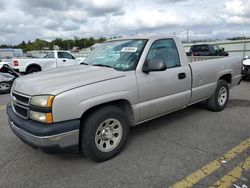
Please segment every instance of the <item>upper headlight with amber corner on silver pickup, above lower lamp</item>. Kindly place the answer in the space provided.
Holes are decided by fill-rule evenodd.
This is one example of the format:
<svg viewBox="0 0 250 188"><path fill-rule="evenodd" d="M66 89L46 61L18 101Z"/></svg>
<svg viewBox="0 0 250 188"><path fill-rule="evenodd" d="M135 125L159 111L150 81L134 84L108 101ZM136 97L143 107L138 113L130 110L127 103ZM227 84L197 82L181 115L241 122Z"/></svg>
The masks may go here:
<svg viewBox="0 0 250 188"><path fill-rule="evenodd" d="M51 108L54 96L42 95L31 98L30 104L33 106Z"/></svg>

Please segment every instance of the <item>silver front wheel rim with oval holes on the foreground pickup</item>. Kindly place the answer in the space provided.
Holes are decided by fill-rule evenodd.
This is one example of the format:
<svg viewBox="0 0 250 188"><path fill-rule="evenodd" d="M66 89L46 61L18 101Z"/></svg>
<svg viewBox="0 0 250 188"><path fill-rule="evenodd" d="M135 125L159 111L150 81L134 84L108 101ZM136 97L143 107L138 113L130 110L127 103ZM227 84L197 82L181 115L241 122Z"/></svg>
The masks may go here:
<svg viewBox="0 0 250 188"><path fill-rule="evenodd" d="M95 133L96 147L102 152L114 150L122 138L122 125L120 121L114 118L103 121Z"/></svg>

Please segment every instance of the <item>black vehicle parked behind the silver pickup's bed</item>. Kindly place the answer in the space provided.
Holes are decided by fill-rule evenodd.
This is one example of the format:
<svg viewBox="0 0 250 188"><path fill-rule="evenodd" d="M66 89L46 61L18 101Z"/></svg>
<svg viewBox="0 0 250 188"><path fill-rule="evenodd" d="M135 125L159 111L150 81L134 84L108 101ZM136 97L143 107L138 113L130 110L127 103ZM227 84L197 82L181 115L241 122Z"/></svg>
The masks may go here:
<svg viewBox="0 0 250 188"><path fill-rule="evenodd" d="M224 48L214 44L199 44L191 46L188 56L228 56Z"/></svg>

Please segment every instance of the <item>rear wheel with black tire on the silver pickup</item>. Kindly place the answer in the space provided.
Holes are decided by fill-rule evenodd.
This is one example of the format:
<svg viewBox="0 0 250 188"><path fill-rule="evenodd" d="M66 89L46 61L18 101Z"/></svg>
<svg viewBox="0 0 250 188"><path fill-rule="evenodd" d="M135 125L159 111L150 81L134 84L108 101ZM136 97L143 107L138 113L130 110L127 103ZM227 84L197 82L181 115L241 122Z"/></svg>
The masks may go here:
<svg viewBox="0 0 250 188"><path fill-rule="evenodd" d="M219 80L213 96L208 100L208 110L219 112L222 111L229 99L229 86L225 80Z"/></svg>

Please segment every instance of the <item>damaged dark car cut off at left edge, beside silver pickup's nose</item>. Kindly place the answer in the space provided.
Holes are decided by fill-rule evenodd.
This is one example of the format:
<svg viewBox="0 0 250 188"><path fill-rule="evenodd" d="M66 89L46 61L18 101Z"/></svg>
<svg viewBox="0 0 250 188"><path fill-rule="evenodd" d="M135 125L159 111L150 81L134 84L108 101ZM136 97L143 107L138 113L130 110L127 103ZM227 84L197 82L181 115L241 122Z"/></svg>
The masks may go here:
<svg viewBox="0 0 250 188"><path fill-rule="evenodd" d="M20 75L7 64L0 64L0 94L9 93L13 81Z"/></svg>

